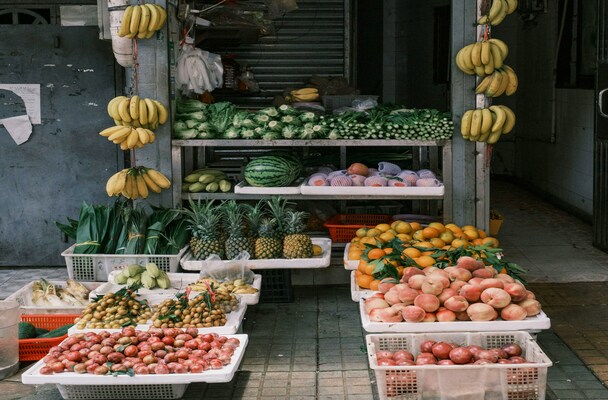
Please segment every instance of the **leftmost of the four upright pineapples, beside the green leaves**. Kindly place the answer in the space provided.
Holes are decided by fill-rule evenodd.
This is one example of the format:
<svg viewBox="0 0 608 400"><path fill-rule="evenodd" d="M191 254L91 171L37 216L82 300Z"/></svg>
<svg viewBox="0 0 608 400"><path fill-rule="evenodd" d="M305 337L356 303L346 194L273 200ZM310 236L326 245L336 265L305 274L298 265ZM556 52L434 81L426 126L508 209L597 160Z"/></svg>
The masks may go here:
<svg viewBox="0 0 608 400"><path fill-rule="evenodd" d="M190 200L190 210L186 210L188 229L192 232L190 249L194 258L205 260L211 254L224 258L224 246L218 237L220 214L213 207L213 201L196 203Z"/></svg>

